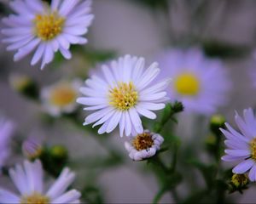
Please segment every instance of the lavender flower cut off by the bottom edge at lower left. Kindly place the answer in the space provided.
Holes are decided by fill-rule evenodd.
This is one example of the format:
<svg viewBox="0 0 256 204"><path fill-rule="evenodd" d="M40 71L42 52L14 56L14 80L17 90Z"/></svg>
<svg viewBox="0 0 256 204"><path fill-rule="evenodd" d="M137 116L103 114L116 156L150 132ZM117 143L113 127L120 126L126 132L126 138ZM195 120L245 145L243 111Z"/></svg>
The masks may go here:
<svg viewBox="0 0 256 204"><path fill-rule="evenodd" d="M24 167L17 165L9 170L9 175L20 195L0 188L0 203L79 203L80 193L77 190L67 190L73 183L75 174L64 168L59 178L44 192L43 167L39 160L24 161Z"/></svg>

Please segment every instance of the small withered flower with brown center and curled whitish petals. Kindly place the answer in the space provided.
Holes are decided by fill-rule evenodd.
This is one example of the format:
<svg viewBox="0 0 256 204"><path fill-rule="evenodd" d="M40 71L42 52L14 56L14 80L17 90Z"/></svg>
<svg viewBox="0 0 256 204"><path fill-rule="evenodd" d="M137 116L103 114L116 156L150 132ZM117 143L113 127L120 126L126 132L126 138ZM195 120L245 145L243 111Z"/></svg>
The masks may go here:
<svg viewBox="0 0 256 204"><path fill-rule="evenodd" d="M131 137L130 142L125 142L125 149L134 161L141 161L154 156L157 150L160 150L160 144L164 141L158 133L150 133L145 130L135 137Z"/></svg>

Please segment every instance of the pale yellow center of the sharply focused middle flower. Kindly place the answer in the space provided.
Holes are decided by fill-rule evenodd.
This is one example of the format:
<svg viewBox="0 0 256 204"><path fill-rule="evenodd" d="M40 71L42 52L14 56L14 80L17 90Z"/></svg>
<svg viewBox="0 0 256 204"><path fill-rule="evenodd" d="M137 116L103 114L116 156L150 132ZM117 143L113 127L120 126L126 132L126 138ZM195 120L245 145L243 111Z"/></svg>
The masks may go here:
<svg viewBox="0 0 256 204"><path fill-rule="evenodd" d="M138 94L132 82L119 82L118 86L109 90L109 104L119 111L127 111L137 105Z"/></svg>

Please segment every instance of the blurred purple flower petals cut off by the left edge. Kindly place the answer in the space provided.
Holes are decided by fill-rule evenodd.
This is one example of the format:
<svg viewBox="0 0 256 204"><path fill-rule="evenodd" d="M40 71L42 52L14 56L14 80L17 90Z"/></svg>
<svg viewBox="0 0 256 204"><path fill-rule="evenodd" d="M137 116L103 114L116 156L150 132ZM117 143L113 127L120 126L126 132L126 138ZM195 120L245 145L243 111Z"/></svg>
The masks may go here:
<svg viewBox="0 0 256 204"><path fill-rule="evenodd" d="M0 118L0 170L4 162L9 157L10 139L14 132L15 126L13 122L9 122Z"/></svg>

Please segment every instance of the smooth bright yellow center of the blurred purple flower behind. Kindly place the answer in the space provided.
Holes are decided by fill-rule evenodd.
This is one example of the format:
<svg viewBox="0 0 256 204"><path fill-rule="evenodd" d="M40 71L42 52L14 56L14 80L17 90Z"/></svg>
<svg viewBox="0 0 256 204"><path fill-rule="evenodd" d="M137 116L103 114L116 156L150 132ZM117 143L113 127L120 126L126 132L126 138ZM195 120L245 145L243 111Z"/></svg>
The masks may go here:
<svg viewBox="0 0 256 204"><path fill-rule="evenodd" d="M178 94L195 96L200 91L200 81L192 73L183 73L175 79L174 87Z"/></svg>

